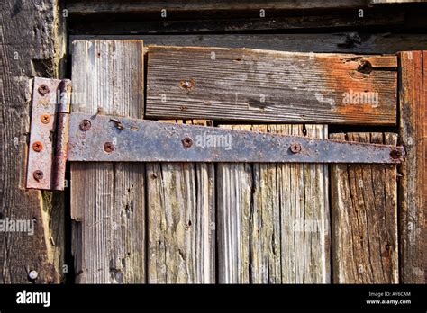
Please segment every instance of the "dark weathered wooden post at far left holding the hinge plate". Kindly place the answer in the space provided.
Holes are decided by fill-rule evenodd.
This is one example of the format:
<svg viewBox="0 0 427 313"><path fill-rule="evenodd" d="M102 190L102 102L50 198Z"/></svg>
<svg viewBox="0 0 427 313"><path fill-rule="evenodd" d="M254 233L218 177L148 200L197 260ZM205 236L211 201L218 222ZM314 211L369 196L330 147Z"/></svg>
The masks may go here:
<svg viewBox="0 0 427 313"><path fill-rule="evenodd" d="M57 11L58 10L58 11ZM64 204L56 192L25 190L32 77L61 78L65 53L59 2L0 4L0 219L31 223L28 232L0 234L0 283L64 281ZM19 34L18 34L19 33ZM28 229L30 230L30 229ZM30 230L31 232L31 230Z"/></svg>

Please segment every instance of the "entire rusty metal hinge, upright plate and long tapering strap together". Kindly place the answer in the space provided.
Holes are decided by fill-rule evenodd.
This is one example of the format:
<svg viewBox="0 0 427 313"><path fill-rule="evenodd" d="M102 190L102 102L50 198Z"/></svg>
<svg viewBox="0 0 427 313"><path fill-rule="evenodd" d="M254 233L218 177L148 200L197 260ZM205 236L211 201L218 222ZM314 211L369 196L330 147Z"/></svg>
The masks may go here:
<svg viewBox="0 0 427 313"><path fill-rule="evenodd" d="M69 92L68 80L34 80L27 188L63 190L67 160L397 164L405 155L388 145L69 114Z"/></svg>

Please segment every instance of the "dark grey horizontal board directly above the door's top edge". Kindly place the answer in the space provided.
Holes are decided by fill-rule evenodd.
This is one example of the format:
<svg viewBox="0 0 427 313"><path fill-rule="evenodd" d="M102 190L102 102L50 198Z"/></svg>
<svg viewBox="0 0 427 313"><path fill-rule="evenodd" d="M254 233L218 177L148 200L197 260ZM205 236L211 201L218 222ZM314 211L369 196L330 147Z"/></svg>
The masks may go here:
<svg viewBox="0 0 427 313"><path fill-rule="evenodd" d="M144 40L145 45L268 49L288 52L392 54L427 49L426 34L276 33L276 34L163 34L163 35L72 35L74 40Z"/></svg>

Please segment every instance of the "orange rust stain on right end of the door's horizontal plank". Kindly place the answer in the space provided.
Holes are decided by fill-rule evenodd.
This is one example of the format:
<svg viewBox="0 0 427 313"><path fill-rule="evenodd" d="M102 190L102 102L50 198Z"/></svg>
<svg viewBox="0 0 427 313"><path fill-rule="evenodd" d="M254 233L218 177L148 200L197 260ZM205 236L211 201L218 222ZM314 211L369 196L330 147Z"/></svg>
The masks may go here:
<svg viewBox="0 0 427 313"><path fill-rule="evenodd" d="M332 58L337 58L333 61ZM397 58L395 56L378 57L328 57L315 58L323 76L329 76L330 92L321 92L324 99L331 92L340 91L341 97L335 100L331 110L341 116L343 121L351 122L354 116L369 115L373 119L381 119L389 114L395 119L397 106ZM333 65L333 66L332 66ZM377 80L381 72L387 71L386 82ZM387 88L385 88L385 86ZM393 111L388 111L384 105L392 99Z"/></svg>

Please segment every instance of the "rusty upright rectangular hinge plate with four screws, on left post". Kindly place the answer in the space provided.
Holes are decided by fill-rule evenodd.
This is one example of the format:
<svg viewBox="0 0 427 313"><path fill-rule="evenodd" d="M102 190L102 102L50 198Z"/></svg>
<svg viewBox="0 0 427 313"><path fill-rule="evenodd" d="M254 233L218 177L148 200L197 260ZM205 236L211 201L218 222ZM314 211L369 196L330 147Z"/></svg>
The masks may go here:
<svg viewBox="0 0 427 313"><path fill-rule="evenodd" d="M64 189L70 88L67 79L34 78L27 188Z"/></svg>

